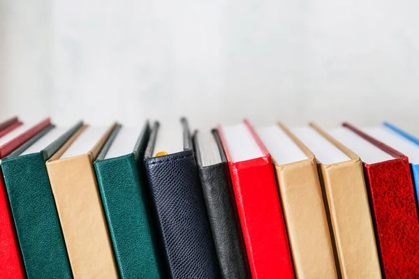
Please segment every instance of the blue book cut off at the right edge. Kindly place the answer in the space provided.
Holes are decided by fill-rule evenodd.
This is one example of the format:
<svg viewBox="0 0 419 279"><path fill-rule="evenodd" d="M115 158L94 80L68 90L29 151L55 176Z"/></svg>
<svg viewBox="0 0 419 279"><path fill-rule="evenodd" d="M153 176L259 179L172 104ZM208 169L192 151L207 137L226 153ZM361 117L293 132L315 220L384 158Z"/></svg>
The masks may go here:
<svg viewBox="0 0 419 279"><path fill-rule="evenodd" d="M401 153L404 153L404 155L409 157L409 162L410 162L410 166L411 166L411 173L412 173L412 178L413 178L413 186L415 187L415 192L416 192L416 209L418 209L418 214L419 214L419 158L418 158L418 150L419 150L419 139L407 132L405 132L404 130L397 128L396 126L388 123L388 122L384 122L383 126L385 126L386 128L392 130L394 133L397 133L398 135L404 137L406 140L409 140L409 143L403 142L401 140L397 141L397 146L392 146L395 149L397 149L397 151L400 151ZM377 140L381 140L377 137ZM391 146L390 142L385 142L385 140L381 140L381 142L384 142L385 144L388 144ZM403 143L402 143L403 142ZM412 144L414 144L415 146L413 147Z"/></svg>

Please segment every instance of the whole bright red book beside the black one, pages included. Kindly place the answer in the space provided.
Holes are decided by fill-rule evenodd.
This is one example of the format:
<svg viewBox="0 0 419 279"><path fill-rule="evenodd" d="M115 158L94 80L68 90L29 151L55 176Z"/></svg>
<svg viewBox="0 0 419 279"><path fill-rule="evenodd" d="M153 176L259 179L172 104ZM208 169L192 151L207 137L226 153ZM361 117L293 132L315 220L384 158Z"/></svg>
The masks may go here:
<svg viewBox="0 0 419 279"><path fill-rule="evenodd" d="M272 160L248 121L219 126L253 279L294 278Z"/></svg>

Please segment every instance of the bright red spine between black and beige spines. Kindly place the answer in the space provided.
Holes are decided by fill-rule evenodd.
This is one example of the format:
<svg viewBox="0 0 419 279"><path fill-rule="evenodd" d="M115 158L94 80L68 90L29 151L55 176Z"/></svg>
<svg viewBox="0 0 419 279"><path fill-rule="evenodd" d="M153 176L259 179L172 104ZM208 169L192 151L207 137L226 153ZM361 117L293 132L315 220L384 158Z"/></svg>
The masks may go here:
<svg viewBox="0 0 419 279"><path fill-rule="evenodd" d="M252 278L294 278L270 157L230 163L230 175Z"/></svg>

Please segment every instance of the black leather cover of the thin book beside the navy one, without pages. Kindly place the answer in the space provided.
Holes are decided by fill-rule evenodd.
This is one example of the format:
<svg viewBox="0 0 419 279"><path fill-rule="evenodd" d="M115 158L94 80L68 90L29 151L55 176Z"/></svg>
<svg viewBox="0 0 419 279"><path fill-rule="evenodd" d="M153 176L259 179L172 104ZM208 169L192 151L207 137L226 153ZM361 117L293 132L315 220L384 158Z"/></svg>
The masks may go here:
<svg viewBox="0 0 419 279"><path fill-rule="evenodd" d="M196 137L194 144L221 276L224 279L249 278L247 258L242 250L244 243L242 242L240 223L239 220L236 220L237 209L235 208L226 155L218 133L216 130L212 130L212 133L219 146L221 163L203 167Z"/></svg>

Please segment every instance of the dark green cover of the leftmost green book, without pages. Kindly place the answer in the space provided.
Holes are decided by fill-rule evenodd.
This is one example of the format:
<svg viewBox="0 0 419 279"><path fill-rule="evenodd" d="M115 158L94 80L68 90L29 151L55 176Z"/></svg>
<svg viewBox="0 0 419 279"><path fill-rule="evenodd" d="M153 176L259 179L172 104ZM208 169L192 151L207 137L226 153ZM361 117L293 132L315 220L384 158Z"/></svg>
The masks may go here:
<svg viewBox="0 0 419 279"><path fill-rule="evenodd" d="M54 128L49 126L1 162L28 278L72 278L45 161L81 126L77 123L38 153L20 156Z"/></svg>

